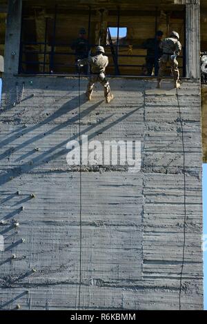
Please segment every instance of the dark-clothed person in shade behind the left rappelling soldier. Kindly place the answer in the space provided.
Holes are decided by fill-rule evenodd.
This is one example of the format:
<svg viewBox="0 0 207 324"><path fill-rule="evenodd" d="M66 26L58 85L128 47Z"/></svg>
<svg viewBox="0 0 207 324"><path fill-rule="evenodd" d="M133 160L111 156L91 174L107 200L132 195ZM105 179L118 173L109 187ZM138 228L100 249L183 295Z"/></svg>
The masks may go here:
<svg viewBox="0 0 207 324"><path fill-rule="evenodd" d="M88 57L89 52L89 43L88 39L86 39L86 30L85 28L81 28L79 30L79 38L73 41L71 45L71 49L75 50L75 62L79 61L79 59L86 59ZM77 71L78 72L78 71ZM84 68L84 74L88 74L87 66Z"/></svg>

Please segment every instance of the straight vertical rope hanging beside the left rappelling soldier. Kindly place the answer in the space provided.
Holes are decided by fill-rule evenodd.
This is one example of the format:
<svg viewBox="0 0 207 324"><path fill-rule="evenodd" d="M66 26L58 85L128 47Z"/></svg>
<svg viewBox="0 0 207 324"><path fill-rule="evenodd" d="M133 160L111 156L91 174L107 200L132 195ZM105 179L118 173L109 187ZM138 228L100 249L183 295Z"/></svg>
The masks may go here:
<svg viewBox="0 0 207 324"><path fill-rule="evenodd" d="M82 267L82 174L81 174L81 166L82 166L82 143L81 143L81 74L79 68L79 148L80 148L80 160L79 160L79 186L80 186L80 212L79 212L79 228L80 228L80 236L79 236L79 247L80 247L80 254L79 254L79 298L78 298L78 309L80 310L80 303L81 303L81 267Z"/></svg>

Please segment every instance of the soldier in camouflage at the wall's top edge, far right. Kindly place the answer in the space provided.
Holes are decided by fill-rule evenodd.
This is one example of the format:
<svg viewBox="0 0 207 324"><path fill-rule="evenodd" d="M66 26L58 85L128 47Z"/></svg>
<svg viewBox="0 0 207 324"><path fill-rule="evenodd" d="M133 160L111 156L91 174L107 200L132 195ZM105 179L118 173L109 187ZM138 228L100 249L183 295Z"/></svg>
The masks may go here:
<svg viewBox="0 0 207 324"><path fill-rule="evenodd" d="M180 87L179 69L177 56L181 51L181 43L179 42L179 34L175 31L171 32L170 37L161 42L160 48L163 50L163 55L159 60L159 73L157 78L157 88L160 88L161 78L164 77L166 65L170 62L172 76L175 82L175 88Z"/></svg>

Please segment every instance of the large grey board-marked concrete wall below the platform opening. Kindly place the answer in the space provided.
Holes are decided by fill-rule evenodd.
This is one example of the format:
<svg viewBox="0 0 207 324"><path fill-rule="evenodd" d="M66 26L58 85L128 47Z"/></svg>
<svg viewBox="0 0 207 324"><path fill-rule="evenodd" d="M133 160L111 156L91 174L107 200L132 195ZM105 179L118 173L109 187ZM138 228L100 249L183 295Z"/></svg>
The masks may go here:
<svg viewBox="0 0 207 324"><path fill-rule="evenodd" d="M185 170L170 81L156 90L152 80L110 79L109 105L99 86L86 102L86 83L81 79L81 134L101 143L141 141L141 171L83 168L80 184L78 168L66 163L66 144L79 139L78 79L7 77L0 115L1 309L178 310L186 172L181 309L201 310L199 82L183 81L178 90Z"/></svg>

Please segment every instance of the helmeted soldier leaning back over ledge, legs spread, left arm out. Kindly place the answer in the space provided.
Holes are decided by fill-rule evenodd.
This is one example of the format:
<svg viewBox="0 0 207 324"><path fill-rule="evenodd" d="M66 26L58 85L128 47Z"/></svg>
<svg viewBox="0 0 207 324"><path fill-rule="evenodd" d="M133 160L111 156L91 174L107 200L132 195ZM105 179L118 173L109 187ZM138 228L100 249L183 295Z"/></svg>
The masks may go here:
<svg viewBox="0 0 207 324"><path fill-rule="evenodd" d="M105 55L105 50L102 46L97 46L95 57L90 56L87 59L81 59L78 61L79 66L88 64L90 64L92 74L90 75L88 82L86 97L88 100L91 100L93 87L95 83L99 82L104 87L106 103L110 103L114 96L110 92L110 85L106 79L105 70L108 66L108 57Z"/></svg>

